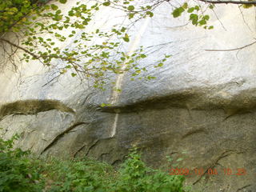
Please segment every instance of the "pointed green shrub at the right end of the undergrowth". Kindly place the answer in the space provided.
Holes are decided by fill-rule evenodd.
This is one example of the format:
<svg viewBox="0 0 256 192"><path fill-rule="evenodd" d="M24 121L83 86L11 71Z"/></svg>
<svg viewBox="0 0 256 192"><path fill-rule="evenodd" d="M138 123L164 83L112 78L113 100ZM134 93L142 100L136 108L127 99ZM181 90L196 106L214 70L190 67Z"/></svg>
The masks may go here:
<svg viewBox="0 0 256 192"><path fill-rule="evenodd" d="M137 150L133 150L119 170L119 180L114 183L114 191L182 192L183 181L182 176L170 176L160 170L150 169L142 162Z"/></svg>

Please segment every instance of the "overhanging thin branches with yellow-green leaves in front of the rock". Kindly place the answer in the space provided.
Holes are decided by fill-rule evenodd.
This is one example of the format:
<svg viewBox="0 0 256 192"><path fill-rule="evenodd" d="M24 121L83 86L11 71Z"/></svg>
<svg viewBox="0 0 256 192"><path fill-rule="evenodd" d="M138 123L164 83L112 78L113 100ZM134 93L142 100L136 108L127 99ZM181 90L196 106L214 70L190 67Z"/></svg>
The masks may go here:
<svg viewBox="0 0 256 192"><path fill-rule="evenodd" d="M4 55L7 55L6 59L15 68L17 52L23 52L22 60L26 62L37 60L45 66L52 66L54 60L59 60L62 63L62 66L58 66L60 74L70 71L72 76L93 78L96 87L104 85L106 74L109 73L122 74L130 71L132 76L138 76L146 71L145 67L138 65L140 60L147 57L143 47L130 54L122 49L122 44L130 42L130 26L140 19L154 17L154 9L164 2L170 4L170 8L175 7L169 0L154 0L143 4L134 0L96 0L94 5L78 1L76 6L62 13L63 10L56 2L65 4L67 0L0 0L0 42ZM209 0L198 2L208 3L209 9L214 9L216 3L222 3ZM239 4L247 8L255 2ZM130 25L114 26L109 31L90 30L95 14L106 6L122 10ZM200 5L190 6L185 2L171 12L174 18L184 13L190 15L190 22L194 26L214 28L208 26L210 16L201 11ZM14 38L8 38L10 36ZM60 48L60 45L65 45L67 40L70 42L70 39L73 39L70 45ZM154 61L154 65L162 66L169 57L163 56ZM6 60L2 62L2 67L4 66Z"/></svg>

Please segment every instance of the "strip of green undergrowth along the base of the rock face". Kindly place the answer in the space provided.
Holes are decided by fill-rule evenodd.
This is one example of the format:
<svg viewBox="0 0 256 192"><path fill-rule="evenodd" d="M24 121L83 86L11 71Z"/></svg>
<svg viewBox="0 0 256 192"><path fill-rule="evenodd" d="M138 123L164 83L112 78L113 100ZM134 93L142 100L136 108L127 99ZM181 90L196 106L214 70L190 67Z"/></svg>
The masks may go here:
<svg viewBox="0 0 256 192"><path fill-rule="evenodd" d="M132 150L118 170L87 158L36 159L0 138L0 192L184 192L182 176L153 170Z"/></svg>

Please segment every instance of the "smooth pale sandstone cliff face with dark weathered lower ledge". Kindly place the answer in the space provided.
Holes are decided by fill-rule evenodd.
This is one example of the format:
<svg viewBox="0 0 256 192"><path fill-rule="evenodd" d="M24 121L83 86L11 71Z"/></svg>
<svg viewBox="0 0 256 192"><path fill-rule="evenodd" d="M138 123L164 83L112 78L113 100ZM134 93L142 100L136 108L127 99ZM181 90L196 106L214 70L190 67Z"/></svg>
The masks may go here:
<svg viewBox="0 0 256 192"><path fill-rule="evenodd" d="M217 7L222 23L213 16L214 30L206 31L171 18L166 7L138 23L127 46L154 45L141 65L155 80L119 75L122 92L110 85L102 92L68 74L55 78L56 70L38 63L21 63L18 73L0 74L2 134L21 134L18 146L38 155L87 155L112 164L137 145L155 167L170 169L169 155L183 159L181 168L218 170L205 179L188 176L203 191L256 191L256 45L206 51L254 42L254 12L245 10L245 22L238 7ZM95 22L114 24L117 14L107 13ZM162 54L173 57L156 70L152 61ZM103 102L112 106L100 107ZM224 175L227 168L246 174Z"/></svg>

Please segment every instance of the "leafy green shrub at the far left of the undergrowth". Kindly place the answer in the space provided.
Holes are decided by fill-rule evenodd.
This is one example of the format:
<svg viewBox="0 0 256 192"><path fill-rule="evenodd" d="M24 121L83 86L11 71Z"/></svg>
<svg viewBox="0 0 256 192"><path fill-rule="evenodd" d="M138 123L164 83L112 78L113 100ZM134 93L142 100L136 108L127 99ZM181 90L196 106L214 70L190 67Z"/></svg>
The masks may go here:
<svg viewBox="0 0 256 192"><path fill-rule="evenodd" d="M12 150L15 135L8 141L0 139L0 191L41 191L40 174L28 158L28 151Z"/></svg>

